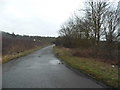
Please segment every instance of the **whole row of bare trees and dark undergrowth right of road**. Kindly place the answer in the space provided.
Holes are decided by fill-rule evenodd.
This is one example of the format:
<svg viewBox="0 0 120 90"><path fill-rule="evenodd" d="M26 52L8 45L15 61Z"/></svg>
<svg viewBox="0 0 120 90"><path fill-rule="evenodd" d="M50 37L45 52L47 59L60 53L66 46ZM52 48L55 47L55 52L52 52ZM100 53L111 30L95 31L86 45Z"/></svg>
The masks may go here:
<svg viewBox="0 0 120 90"><path fill-rule="evenodd" d="M109 59L118 57L120 49L120 2L114 7L105 0L87 2L85 15L75 14L59 30L56 45L67 48L103 50Z"/></svg>

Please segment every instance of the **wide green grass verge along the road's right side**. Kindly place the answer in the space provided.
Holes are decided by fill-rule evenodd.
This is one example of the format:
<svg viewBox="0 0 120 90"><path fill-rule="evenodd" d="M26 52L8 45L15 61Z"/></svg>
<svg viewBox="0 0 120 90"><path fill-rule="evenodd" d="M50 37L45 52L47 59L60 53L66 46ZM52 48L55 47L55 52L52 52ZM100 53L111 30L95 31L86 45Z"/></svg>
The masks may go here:
<svg viewBox="0 0 120 90"><path fill-rule="evenodd" d="M56 55L69 66L80 70L106 85L118 88L118 67L93 58L76 57L69 49L54 47Z"/></svg>

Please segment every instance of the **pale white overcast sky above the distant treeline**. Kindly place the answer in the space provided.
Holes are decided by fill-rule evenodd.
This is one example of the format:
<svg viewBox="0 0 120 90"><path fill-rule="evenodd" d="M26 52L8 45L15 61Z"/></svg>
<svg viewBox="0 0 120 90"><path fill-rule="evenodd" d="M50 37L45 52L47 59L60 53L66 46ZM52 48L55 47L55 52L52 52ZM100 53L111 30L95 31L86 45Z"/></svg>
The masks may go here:
<svg viewBox="0 0 120 90"><path fill-rule="evenodd" d="M84 0L0 0L0 30L58 36L61 24L83 7Z"/></svg>

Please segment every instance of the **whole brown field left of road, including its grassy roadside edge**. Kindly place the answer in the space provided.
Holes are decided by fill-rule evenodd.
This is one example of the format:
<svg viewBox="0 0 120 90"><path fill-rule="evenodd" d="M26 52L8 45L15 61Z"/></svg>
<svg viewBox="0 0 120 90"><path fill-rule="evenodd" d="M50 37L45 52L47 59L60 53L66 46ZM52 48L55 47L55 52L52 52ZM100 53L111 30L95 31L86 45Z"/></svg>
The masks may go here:
<svg viewBox="0 0 120 90"><path fill-rule="evenodd" d="M22 36L2 32L2 63L52 44L54 37Z"/></svg>

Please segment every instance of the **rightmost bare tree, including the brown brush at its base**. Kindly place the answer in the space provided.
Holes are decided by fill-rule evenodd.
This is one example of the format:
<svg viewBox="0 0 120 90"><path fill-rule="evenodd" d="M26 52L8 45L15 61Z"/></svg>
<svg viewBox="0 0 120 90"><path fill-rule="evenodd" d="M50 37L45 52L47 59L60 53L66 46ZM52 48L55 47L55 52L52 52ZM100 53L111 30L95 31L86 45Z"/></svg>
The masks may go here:
<svg viewBox="0 0 120 90"><path fill-rule="evenodd" d="M104 23L103 23L103 36L106 39L106 49L108 52L108 56L112 59L115 54L114 51L117 51L118 38L120 36L119 32L119 12L118 9L109 8L104 15ZM114 53L114 54L112 54Z"/></svg>

